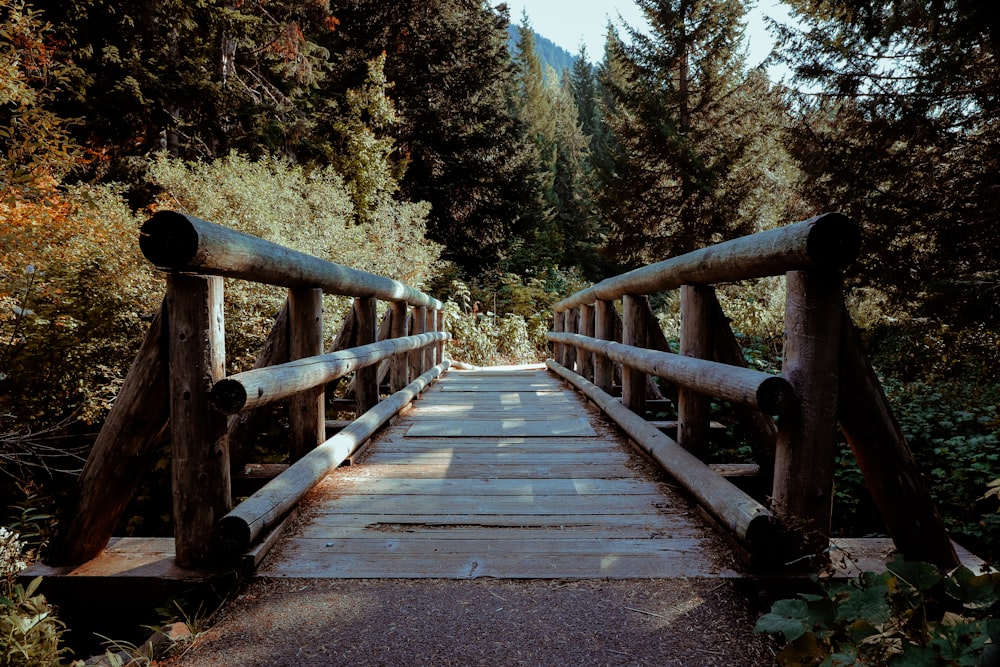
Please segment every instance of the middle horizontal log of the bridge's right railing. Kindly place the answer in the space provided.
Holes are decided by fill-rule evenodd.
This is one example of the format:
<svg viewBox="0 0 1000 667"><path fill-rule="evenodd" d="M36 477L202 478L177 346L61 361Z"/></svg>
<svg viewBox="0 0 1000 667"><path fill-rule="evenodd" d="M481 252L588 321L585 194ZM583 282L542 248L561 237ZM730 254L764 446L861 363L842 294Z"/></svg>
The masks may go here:
<svg viewBox="0 0 1000 667"><path fill-rule="evenodd" d="M767 415L784 414L795 405L792 385L777 375L670 352L630 347L579 334L550 332L547 337L553 342L575 345L603 354L612 361L644 373L684 385L702 394L745 405Z"/></svg>

